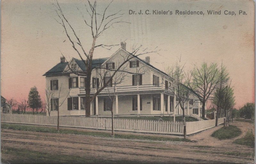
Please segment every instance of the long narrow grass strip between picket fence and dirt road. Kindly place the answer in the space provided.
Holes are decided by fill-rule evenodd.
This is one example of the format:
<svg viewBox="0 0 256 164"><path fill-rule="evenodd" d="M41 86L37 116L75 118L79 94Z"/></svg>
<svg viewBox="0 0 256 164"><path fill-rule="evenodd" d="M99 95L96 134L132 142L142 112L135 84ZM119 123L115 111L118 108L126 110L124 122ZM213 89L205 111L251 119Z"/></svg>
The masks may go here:
<svg viewBox="0 0 256 164"><path fill-rule="evenodd" d="M14 130L25 130L25 131L36 131L44 133L60 133L60 134L76 134L76 135L86 135L94 137L111 137L108 132L88 132L82 130L72 130L61 128L58 132L57 128L40 127L33 125L18 125L18 124L1 124L1 129L14 129ZM115 138L123 139L141 139L141 140L152 140L152 141L185 141L190 142L189 139L184 138L170 138L170 137L159 137L159 136L145 136L145 135L132 135L132 134L115 134Z"/></svg>

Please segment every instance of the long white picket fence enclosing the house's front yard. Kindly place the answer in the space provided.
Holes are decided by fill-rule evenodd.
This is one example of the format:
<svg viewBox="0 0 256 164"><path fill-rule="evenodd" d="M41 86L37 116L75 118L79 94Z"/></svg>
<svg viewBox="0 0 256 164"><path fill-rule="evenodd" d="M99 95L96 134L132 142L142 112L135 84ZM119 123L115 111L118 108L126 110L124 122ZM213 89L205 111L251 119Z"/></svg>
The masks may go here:
<svg viewBox="0 0 256 164"><path fill-rule="evenodd" d="M221 119L223 120L223 118ZM219 119L220 122L221 119ZM57 126L57 116L2 113L1 122ZM196 133L211 128L214 125L215 120L187 122L187 134L188 132L189 134ZM111 118L60 116L60 126L110 130L112 122ZM183 122L114 119L114 129L119 131L182 135Z"/></svg>

